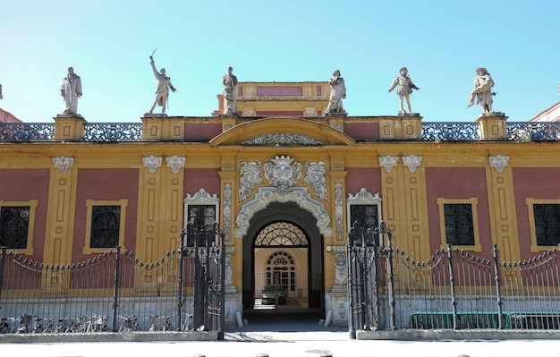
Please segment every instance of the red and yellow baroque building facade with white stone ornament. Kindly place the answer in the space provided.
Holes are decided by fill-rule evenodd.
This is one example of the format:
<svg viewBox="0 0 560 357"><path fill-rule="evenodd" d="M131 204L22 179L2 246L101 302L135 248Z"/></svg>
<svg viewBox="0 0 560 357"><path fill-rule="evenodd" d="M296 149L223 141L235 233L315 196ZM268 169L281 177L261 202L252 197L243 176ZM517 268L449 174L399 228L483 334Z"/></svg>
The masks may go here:
<svg viewBox="0 0 560 357"><path fill-rule="evenodd" d="M149 262L180 246L187 223L216 221L228 310L254 310L261 289L280 284L301 309L344 324L355 224L384 221L417 261L447 243L486 259L497 244L518 261L560 242L539 230L560 217L542 213L560 207L556 142L504 115L455 126L324 116L327 88L247 82L239 115L103 125L65 115L50 133L30 124L31 140L4 129L2 244L55 265L116 245Z"/></svg>

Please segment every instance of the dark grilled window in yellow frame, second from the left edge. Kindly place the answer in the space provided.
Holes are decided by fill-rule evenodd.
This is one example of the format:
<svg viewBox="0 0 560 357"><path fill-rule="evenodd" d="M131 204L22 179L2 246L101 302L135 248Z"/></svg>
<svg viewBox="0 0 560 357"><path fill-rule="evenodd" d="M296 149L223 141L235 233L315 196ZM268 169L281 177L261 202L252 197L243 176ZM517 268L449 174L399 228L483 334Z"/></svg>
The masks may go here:
<svg viewBox="0 0 560 357"><path fill-rule="evenodd" d="M121 206L93 206L89 248L115 248L119 244Z"/></svg>

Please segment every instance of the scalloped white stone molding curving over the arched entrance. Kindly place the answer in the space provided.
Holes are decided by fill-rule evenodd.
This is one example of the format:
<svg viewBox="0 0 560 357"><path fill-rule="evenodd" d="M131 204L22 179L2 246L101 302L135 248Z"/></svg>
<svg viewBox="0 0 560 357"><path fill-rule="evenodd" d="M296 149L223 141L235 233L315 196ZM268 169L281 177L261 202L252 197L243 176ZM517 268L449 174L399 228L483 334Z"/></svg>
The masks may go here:
<svg viewBox="0 0 560 357"><path fill-rule="evenodd" d="M279 193L274 187L259 187L255 197L244 203L239 214L235 218L235 223L239 228L235 229L235 237L242 238L249 229L250 218L257 212L268 207L271 202L295 202L313 217L317 218L317 226L321 234L332 235L332 228L328 227L330 217L323 204L313 200L307 191L307 187L293 187L289 192Z"/></svg>

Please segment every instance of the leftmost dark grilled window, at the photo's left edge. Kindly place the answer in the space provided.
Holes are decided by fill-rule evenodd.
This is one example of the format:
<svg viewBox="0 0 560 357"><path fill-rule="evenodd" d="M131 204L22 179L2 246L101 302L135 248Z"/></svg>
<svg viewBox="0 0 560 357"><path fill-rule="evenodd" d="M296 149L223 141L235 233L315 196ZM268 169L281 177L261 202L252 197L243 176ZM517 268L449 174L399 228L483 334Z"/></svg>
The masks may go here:
<svg viewBox="0 0 560 357"><path fill-rule="evenodd" d="M0 208L0 246L25 249L28 245L30 207Z"/></svg>

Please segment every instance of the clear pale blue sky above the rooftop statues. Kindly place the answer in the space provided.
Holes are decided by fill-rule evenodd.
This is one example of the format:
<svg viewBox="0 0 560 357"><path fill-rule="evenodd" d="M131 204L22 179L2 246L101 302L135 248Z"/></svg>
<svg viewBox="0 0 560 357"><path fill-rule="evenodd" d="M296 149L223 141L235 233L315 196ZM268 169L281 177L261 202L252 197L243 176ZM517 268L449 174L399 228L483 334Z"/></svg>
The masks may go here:
<svg viewBox="0 0 560 357"><path fill-rule="evenodd" d="M208 116L228 66L239 81L327 81L340 69L349 115L396 115L406 66L424 122L472 122L475 69L496 82L494 109L524 122L558 100L560 2L510 0L4 1L0 107L27 123L63 111L68 66L89 123L134 123L165 67L168 115ZM156 110L157 112L157 110Z"/></svg>

